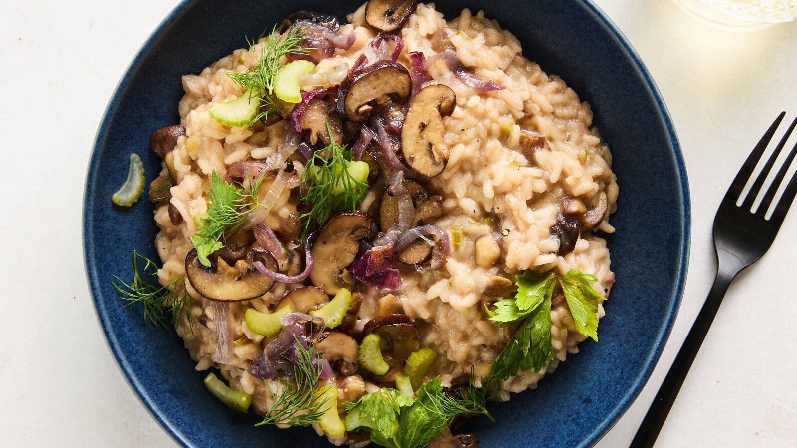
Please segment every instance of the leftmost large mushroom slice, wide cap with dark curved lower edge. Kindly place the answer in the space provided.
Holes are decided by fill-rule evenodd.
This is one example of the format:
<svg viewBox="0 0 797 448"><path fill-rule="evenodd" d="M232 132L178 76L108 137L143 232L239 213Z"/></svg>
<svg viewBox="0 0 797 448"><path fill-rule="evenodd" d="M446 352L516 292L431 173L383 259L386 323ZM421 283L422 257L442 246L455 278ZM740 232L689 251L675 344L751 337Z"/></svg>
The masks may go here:
<svg viewBox="0 0 797 448"><path fill-rule="evenodd" d="M254 269L254 261L260 261L267 269L278 270L277 261L265 250L249 249L232 266L224 257L215 257L214 264L206 267L199 262L194 249L186 256L186 277L197 293L212 301L247 301L268 293L276 283Z"/></svg>

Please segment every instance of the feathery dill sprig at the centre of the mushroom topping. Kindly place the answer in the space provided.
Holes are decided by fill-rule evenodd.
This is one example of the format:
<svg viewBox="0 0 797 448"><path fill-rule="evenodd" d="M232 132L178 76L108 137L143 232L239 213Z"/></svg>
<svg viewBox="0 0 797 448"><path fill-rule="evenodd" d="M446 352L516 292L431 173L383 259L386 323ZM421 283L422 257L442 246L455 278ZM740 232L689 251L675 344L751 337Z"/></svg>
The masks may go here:
<svg viewBox="0 0 797 448"><path fill-rule="evenodd" d="M332 136L329 122L327 132ZM356 210L368 184L351 175L348 170L351 163L351 150L347 150L346 145L339 145L334 139L324 149L313 153L308 160L301 177L301 183L308 186L301 201L312 204L310 211L300 216L305 235L311 226L320 226L338 210Z"/></svg>

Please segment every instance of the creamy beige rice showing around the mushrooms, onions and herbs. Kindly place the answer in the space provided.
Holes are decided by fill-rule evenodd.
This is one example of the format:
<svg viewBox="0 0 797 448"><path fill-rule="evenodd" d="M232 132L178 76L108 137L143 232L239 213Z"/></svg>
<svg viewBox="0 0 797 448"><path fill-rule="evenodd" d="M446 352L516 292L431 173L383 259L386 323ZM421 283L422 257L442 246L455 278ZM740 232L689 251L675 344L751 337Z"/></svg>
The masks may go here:
<svg viewBox="0 0 797 448"><path fill-rule="evenodd" d="M339 33L355 32L355 44L320 61L316 73L332 71L344 63L351 67L375 37L364 25L363 8L351 14L349 21ZM489 362L508 340L505 328L488 320L483 309L485 304L497 300L490 293L496 277L513 281L514 275L524 269L558 273L578 269L595 275L600 283L594 285L595 289L608 295L614 274L606 242L584 232L575 243L575 250L561 257L556 255L559 239L551 235L550 229L556 224L564 197L590 202L605 193L608 212L596 230L613 232L608 217L614 211L618 187L611 171L609 149L592 127L589 105L580 101L561 78L544 73L539 65L522 57L516 37L497 22L485 19L481 12L473 15L463 10L453 22L446 22L434 5L419 5L400 31L406 48L398 62L409 67L406 54L414 51L421 51L426 57L434 55L430 37L446 26L461 31L453 33L450 41L462 64L478 76L505 86L497 91L476 92L444 64L429 70L430 83L453 89L457 107L444 119L449 162L442 175L430 179L426 186L444 198L444 213L434 224L450 237L457 226L462 241L453 246L445 269L403 273L403 289L395 295L404 312L421 329L422 345L440 353L427 379L439 374L443 385L450 385L465 378L471 367L477 375L484 375ZM171 188L171 204L183 220L173 226L167 205L155 212L161 229L155 241L163 261L159 281L164 285L185 273L186 253L193 249L190 237L196 232L194 219L208 206L210 174L215 170L223 175L231 163L243 160L265 161L276 151L289 126L281 120L269 128L263 124L249 129L229 128L210 118L208 110L214 103L241 95L226 73L244 72L256 64L257 51L238 49L202 73L183 77L186 94L180 101L179 114L186 136L179 137L175 150L167 156L176 183ZM501 129L501 117L512 118L511 128ZM536 151L534 156L524 154L520 149L523 133L543 137L546 150ZM273 230L281 231L285 218L296 212L296 204L296 194L286 189L266 218ZM477 251L478 238L486 234L501 234L497 260L492 263L490 257L485 260L483 251ZM261 354L263 336L246 327L244 312L246 308L271 311L270 307L287 290L299 286L303 285L277 283L263 297L231 304L231 331L237 342L233 360L223 365L214 362L213 306L188 285L195 299L190 308L193 331L184 319L177 331L197 361L196 368L218 367L231 386L253 394L253 407L259 413L269 408L271 395L265 383L249 375L246 368ZM364 293L358 324L376 315L376 301L383 295ZM521 371L503 382L500 399L508 399L509 392L536 387L545 373L553 371L567 353L578 352L577 344L586 339L576 331L567 305L552 308L551 314L556 359L540 372ZM599 305L598 316L603 314L603 305ZM201 316L206 325L198 324Z"/></svg>

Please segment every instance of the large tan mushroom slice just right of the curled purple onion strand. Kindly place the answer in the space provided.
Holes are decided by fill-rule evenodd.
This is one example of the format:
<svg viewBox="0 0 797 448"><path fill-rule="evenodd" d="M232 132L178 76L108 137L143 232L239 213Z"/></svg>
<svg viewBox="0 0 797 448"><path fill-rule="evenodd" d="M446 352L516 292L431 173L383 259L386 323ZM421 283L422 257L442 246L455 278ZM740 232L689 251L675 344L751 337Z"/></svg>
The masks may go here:
<svg viewBox="0 0 797 448"><path fill-rule="evenodd" d="M374 222L359 210L333 214L312 243L316 260L316 269L310 274L312 284L328 294L335 294L340 288L351 289L354 278L346 268L354 262L358 241L374 238L376 233Z"/></svg>

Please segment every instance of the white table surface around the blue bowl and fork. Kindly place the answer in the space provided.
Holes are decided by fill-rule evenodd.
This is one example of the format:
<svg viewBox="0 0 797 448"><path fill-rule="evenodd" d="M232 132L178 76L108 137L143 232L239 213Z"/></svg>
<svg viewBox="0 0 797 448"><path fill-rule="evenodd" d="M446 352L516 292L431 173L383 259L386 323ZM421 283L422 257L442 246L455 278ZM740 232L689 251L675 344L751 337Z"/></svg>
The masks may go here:
<svg viewBox="0 0 797 448"><path fill-rule="evenodd" d="M662 90L693 210L689 280L672 336L642 394L599 442L606 448L630 442L709 292L711 223L733 175L778 112L797 114L797 23L728 32L670 0L596 2ZM0 445L175 445L100 334L80 207L108 97L177 3L0 2ZM731 286L658 446L797 446L795 230L797 210Z"/></svg>

